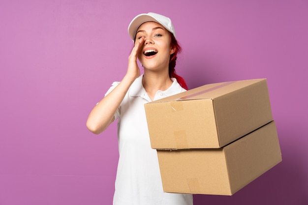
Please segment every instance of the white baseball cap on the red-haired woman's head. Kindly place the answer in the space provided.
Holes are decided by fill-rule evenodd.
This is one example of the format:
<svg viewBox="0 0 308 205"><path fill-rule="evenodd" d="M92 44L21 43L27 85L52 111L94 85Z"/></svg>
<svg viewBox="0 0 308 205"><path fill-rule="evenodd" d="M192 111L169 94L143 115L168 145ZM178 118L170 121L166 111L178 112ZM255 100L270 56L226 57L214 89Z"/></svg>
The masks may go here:
<svg viewBox="0 0 308 205"><path fill-rule="evenodd" d="M165 29L169 30L174 35L174 37L176 37L174 27L171 23L171 19L166 16L150 12L147 14L139 14L130 22L128 26L128 34L131 39L135 40L137 29L140 27L141 24L148 21L153 21L158 24L161 24Z"/></svg>

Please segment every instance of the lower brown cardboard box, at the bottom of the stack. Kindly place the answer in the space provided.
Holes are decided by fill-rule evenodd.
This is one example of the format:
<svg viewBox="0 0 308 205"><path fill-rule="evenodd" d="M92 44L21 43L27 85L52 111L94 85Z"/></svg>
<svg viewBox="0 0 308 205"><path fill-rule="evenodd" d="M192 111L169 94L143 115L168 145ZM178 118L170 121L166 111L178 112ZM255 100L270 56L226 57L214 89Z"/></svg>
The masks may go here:
<svg viewBox="0 0 308 205"><path fill-rule="evenodd" d="M157 150L164 192L232 195L281 161L275 122L216 149Z"/></svg>

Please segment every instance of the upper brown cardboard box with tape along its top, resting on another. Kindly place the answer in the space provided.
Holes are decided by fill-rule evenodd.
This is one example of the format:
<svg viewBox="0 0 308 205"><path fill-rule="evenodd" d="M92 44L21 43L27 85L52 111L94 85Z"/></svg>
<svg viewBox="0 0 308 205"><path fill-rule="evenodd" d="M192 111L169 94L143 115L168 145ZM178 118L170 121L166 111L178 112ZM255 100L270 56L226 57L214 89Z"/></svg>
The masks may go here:
<svg viewBox="0 0 308 205"><path fill-rule="evenodd" d="M154 149L219 148L273 120L266 79L205 85L145 111Z"/></svg>

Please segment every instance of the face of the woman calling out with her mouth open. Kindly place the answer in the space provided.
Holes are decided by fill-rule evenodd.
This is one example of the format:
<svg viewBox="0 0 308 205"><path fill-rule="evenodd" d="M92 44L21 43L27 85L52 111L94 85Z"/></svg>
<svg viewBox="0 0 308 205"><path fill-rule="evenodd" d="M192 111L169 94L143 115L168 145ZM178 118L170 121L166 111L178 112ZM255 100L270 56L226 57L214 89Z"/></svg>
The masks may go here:
<svg viewBox="0 0 308 205"><path fill-rule="evenodd" d="M138 59L145 69L168 69L170 55L170 32L155 22L143 23L136 32L135 42L144 37Z"/></svg>

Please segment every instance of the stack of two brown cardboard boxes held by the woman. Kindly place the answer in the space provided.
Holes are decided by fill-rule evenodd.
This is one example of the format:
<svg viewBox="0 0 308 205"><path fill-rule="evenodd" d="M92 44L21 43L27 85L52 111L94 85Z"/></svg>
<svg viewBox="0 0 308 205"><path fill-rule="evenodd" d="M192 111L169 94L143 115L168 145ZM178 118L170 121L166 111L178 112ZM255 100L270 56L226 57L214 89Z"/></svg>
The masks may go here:
<svg viewBox="0 0 308 205"><path fill-rule="evenodd" d="M164 192L232 195L281 161L266 79L145 104Z"/></svg>

